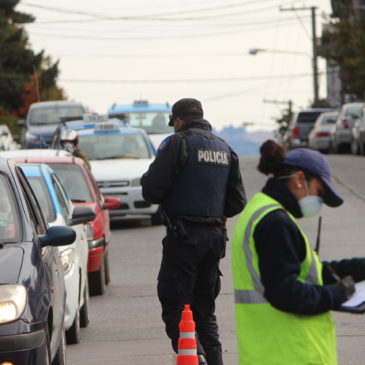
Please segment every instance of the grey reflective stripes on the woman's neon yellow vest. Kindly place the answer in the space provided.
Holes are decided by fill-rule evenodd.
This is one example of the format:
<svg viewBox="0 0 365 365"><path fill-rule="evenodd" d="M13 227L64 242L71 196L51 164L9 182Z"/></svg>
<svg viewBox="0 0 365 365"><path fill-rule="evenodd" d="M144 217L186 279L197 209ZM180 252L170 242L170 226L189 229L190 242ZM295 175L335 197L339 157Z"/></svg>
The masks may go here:
<svg viewBox="0 0 365 365"><path fill-rule="evenodd" d="M242 242L242 248L245 253L246 258L246 266L251 275L252 283L254 286L253 290L235 290L234 297L235 303L267 303L267 300L264 297L264 287L261 283L260 277L258 273L255 271L253 267L252 261L252 252L250 250L250 238L252 235L252 227L256 220L267 210L272 210L272 208L277 207L277 209L283 209L280 204L270 204L258 209L250 218L245 235ZM299 227L298 227L299 228ZM300 232L303 235L302 230L299 228ZM309 268L309 272L307 277L305 278L305 283L308 284L317 284L318 283L318 272L316 267L316 261L314 259L313 250L309 250L309 254L311 255L311 266Z"/></svg>

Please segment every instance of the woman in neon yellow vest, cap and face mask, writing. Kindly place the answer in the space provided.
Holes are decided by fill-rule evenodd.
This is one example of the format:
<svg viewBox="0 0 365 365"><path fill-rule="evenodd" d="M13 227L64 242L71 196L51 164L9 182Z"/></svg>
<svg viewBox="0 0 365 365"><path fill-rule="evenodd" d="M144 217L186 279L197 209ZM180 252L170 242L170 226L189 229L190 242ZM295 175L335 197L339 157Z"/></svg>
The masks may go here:
<svg viewBox="0 0 365 365"><path fill-rule="evenodd" d="M365 258L320 262L297 222L343 203L325 158L271 140L260 153L258 170L273 177L242 211L231 251L238 363L335 365L330 310L365 279Z"/></svg>

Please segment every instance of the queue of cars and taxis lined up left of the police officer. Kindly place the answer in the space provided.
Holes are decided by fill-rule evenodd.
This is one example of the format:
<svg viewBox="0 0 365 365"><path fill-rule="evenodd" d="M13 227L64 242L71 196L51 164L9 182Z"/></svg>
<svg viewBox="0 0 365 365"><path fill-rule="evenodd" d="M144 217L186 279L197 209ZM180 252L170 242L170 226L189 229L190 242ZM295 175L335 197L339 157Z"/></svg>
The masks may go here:
<svg viewBox="0 0 365 365"><path fill-rule="evenodd" d="M80 103L34 103L18 122L22 149L0 151L0 364L66 364L66 343L89 323L89 295L110 282L110 216L161 223L140 179L172 133L170 106L84 112ZM91 171L61 149L65 129L77 131Z"/></svg>

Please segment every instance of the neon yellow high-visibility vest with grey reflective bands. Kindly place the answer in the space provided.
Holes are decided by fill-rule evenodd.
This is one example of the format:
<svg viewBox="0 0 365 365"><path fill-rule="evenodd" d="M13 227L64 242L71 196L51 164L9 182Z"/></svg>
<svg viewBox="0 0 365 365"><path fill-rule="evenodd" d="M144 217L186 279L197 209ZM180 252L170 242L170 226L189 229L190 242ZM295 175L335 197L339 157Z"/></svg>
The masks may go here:
<svg viewBox="0 0 365 365"><path fill-rule="evenodd" d="M336 365L336 330L330 312L298 315L274 308L264 297L253 233L269 212L285 208L264 193L241 213L232 243L239 365ZM306 255L298 280L323 285L322 264L296 219Z"/></svg>

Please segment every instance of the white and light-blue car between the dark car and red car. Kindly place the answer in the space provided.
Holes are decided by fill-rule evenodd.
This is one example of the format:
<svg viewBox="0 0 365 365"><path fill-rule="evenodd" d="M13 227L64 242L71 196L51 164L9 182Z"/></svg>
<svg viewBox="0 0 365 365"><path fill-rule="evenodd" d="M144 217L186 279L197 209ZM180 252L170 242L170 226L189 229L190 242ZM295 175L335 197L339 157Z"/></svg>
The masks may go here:
<svg viewBox="0 0 365 365"><path fill-rule="evenodd" d="M45 164L20 164L50 227L72 226L76 240L60 246L66 287L65 330L67 343L80 341L80 327L89 323L87 278L88 242L85 223L95 218L91 208L75 207L52 169Z"/></svg>

